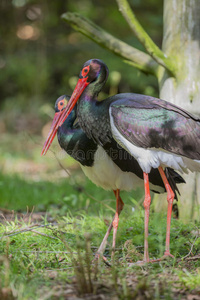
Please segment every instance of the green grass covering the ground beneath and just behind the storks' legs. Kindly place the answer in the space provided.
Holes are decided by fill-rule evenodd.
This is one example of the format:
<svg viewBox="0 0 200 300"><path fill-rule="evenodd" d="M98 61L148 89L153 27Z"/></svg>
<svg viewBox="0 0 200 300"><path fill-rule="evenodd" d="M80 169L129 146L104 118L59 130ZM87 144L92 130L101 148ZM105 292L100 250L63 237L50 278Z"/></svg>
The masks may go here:
<svg viewBox="0 0 200 300"><path fill-rule="evenodd" d="M128 262L142 259L143 255L143 208L137 206L133 213L135 200L129 199L120 216L116 265L108 268L101 262L95 270L90 262L107 229L105 223L112 219L112 194L108 197L107 192L89 181L80 191L66 179L50 183L3 174L0 178L5 201L1 206L24 210L20 217L15 215L11 219L5 214L7 220L0 226L0 299L67 299L70 295L88 299L88 294L103 294L108 299L186 299L188 294L200 292L199 260L181 260L191 249L198 224L172 220L171 252L175 260L127 267ZM90 198L85 190L98 195L101 203ZM108 200L104 203L103 199ZM27 204L30 209L35 207L28 217ZM33 215L41 210L47 214L34 223ZM163 254L165 230L166 215L152 213L151 257ZM106 251L109 260L111 244L112 236ZM190 257L198 255L199 249L197 238Z"/></svg>

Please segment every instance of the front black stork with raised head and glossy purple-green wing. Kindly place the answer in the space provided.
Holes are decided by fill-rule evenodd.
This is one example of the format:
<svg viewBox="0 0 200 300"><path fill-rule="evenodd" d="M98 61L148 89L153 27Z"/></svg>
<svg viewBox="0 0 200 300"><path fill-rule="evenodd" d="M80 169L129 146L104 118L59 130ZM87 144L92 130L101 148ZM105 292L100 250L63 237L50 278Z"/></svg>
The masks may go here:
<svg viewBox="0 0 200 300"><path fill-rule="evenodd" d="M164 256L172 256L170 221L174 191L163 168L170 167L181 172L200 170L200 119L167 101L146 95L122 93L99 101L98 94L107 76L108 68L101 60L87 61L55 128L62 125L79 99L77 116L87 136L102 146L114 138L137 160L145 186L145 261L149 261L149 173L152 169L158 169L168 201Z"/></svg>

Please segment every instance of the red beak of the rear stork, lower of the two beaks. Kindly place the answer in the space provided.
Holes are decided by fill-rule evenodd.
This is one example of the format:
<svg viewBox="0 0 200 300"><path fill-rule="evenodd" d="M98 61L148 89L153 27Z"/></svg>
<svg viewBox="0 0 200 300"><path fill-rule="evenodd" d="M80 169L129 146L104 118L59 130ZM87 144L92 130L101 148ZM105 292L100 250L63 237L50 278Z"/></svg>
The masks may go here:
<svg viewBox="0 0 200 300"><path fill-rule="evenodd" d="M47 139L44 143L44 146L42 148L42 152L41 152L41 155L45 155L49 149L49 147L51 146L51 143L53 142L55 136L56 136L56 133L58 131L58 127L59 127L59 121L60 121L60 118L62 117L62 112L56 112L55 115L54 115L54 118L53 118L53 122L51 124L51 128L49 130L49 134L47 136Z"/></svg>

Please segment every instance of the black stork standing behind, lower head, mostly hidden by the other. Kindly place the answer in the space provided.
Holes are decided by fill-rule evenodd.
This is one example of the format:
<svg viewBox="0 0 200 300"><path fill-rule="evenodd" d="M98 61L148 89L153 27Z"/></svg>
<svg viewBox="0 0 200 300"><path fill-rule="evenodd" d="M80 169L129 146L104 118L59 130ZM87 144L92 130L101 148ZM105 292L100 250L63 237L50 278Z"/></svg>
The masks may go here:
<svg viewBox="0 0 200 300"><path fill-rule="evenodd" d="M97 251L96 258L103 254L105 243L112 227L114 228L113 255L119 214L124 205L120 198L120 190L132 190L139 185L143 185L143 172L137 160L129 155L113 138L102 146L98 145L92 138L87 137L77 123L77 107L71 111L64 123L57 127L56 124L67 107L68 101L69 97L66 95L56 100L55 116L42 154L46 154L57 132L61 148L80 163L85 175L96 185L106 190L114 191L116 196L116 213ZM183 178L170 168L165 169L165 174L176 195L176 191L178 192L176 183L184 182ZM151 190L158 193L165 192L165 186L157 169L150 171L149 181ZM147 247L146 251L148 253Z"/></svg>

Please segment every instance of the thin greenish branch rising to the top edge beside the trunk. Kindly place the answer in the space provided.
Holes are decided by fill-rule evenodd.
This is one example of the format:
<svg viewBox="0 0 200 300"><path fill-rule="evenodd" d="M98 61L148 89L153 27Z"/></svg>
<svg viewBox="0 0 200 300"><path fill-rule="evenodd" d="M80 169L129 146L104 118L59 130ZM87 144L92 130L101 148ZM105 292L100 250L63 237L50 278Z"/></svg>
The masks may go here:
<svg viewBox="0 0 200 300"><path fill-rule="evenodd" d="M147 52L153 57L153 59L167 69L173 76L175 76L175 65L173 61L167 57L165 53L160 50L160 48L152 41L147 32L143 29L141 24L136 19L133 11L127 0L116 0L124 19L129 24L130 28L133 30L134 34L140 41L140 43L145 47Z"/></svg>

